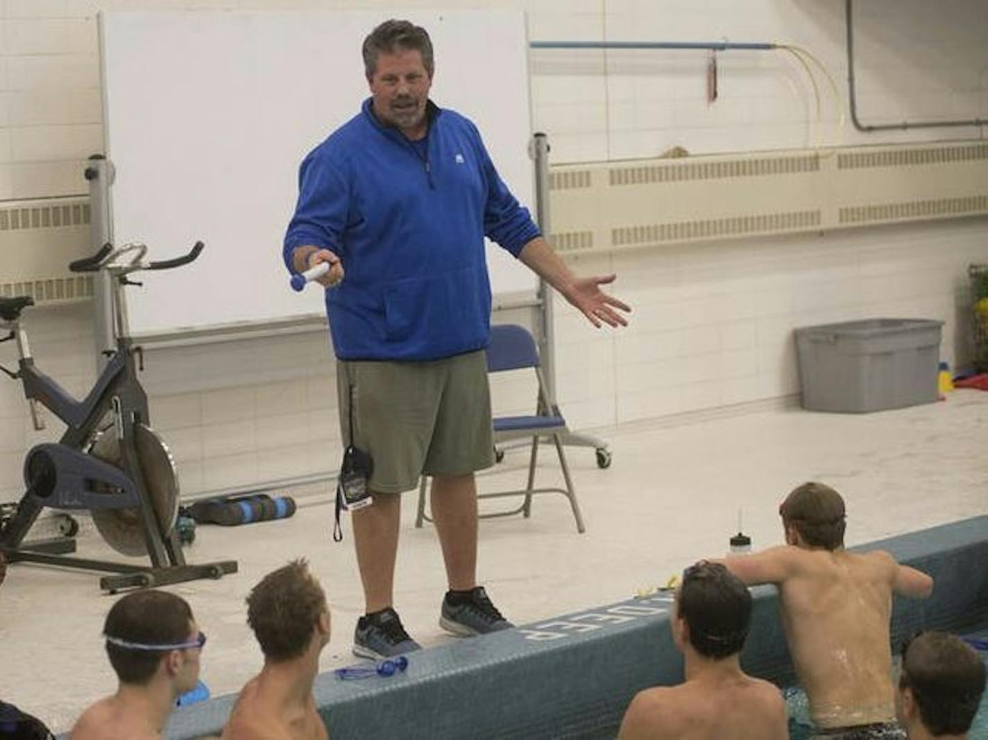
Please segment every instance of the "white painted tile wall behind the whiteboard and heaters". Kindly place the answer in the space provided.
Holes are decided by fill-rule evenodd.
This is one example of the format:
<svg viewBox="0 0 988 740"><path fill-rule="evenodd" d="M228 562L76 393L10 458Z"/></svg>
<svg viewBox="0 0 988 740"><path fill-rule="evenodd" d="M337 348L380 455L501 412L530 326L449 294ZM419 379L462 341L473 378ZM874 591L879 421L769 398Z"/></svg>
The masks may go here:
<svg viewBox="0 0 988 740"><path fill-rule="evenodd" d="M417 0L0 0L0 200L85 191L81 162L102 138L95 14L100 9L418 7ZM846 105L841 0L439 0L441 7L529 11L533 40L782 41L812 51ZM894 12L892 12L894 8ZM980 0L856 3L860 112L867 123L988 117L988 6ZM705 52L532 54L535 128L556 163L694 153L984 136L972 129L868 135L836 125L818 77L821 121L805 72L782 52L718 54L719 98L705 100ZM3 237L0 236L0 248ZM966 220L824 237L691 245L572 260L617 272L631 325L594 330L556 310L563 410L589 428L794 393L793 327L876 315L947 321L943 354L965 357L966 265L988 262L988 224ZM959 295L959 297L958 297ZM961 308L958 308L958 305ZM92 381L86 308L35 309L42 367L73 392ZM0 345L10 364L11 345ZM321 334L148 353L152 420L183 491L331 469L340 452L332 359ZM495 407L527 409L535 388L498 377ZM16 385L0 380L0 500L20 494L36 433Z"/></svg>

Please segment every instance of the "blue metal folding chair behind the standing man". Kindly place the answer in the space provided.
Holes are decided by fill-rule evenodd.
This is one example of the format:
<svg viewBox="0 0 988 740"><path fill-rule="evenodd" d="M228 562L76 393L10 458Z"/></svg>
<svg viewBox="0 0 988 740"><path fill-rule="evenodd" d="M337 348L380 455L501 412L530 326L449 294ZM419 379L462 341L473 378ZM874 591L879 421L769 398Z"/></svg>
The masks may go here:
<svg viewBox="0 0 988 740"><path fill-rule="evenodd" d="M538 379L538 400L535 414L531 416L501 416L494 418L494 442L502 443L511 440L532 439L532 455L529 460L529 482L525 488L509 491L494 491L477 494L478 499L503 498L505 496L524 496L525 500L517 509L504 512L494 512L481 515L489 517L508 517L514 514L532 515L532 497L536 493L561 493L569 499L576 519L577 532L583 533L583 516L580 514L580 504L576 500L576 490L573 479L569 474L566 454L563 452L561 436L567 434L566 420L559 412L559 407L549 398L545 389L545 377L538 361L538 351L535 349L535 339L529 330L516 324L500 324L491 327L490 343L487 345L487 371L504 372L506 370L535 370ZM559 455L559 465L566 481L565 488L535 488L535 462L538 456L538 442L542 437L552 439ZM426 516L426 476L422 476L419 485L419 508L415 518L415 526L422 527L424 521L432 520Z"/></svg>

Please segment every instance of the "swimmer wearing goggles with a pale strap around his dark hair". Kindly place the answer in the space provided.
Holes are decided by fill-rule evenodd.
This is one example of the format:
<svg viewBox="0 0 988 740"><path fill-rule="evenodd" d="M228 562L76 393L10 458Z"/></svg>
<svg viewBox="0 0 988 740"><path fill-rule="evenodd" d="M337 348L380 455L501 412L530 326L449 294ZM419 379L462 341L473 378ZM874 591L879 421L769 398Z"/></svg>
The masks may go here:
<svg viewBox="0 0 988 740"><path fill-rule="evenodd" d="M103 633L120 686L82 713L71 740L160 740L176 699L196 687L206 635L184 599L152 590L118 601Z"/></svg>

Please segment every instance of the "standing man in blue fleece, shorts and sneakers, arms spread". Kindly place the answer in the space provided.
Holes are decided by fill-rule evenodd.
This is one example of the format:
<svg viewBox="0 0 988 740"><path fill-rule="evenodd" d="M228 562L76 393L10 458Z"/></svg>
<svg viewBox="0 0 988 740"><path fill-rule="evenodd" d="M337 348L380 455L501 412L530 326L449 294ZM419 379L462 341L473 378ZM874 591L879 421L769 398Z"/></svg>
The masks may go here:
<svg viewBox="0 0 988 740"><path fill-rule="evenodd" d="M393 609L400 493L433 476L450 590L440 623L472 635L511 624L476 582L473 473L493 463L484 347L491 310L484 236L595 325L624 303L577 279L501 181L476 126L429 100L426 31L387 21L364 41L371 98L301 164L288 269L330 265L326 288L344 443L368 452L372 505L353 514L367 614L354 652L418 649ZM344 275L346 279L344 280Z"/></svg>

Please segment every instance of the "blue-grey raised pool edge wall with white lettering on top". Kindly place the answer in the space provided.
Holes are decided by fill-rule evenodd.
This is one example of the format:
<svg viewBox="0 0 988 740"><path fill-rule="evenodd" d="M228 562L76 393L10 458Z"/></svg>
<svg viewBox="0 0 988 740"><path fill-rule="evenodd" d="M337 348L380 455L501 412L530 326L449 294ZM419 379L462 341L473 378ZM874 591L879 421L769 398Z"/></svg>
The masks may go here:
<svg viewBox="0 0 988 740"><path fill-rule="evenodd" d="M931 599L895 600L893 644L919 628L988 624L988 516L854 549L888 550L937 579ZM788 683L792 673L775 589L753 594L743 665ZM672 607L672 595L660 593L456 640L409 656L408 671L390 678L339 681L322 674L316 703L333 740L613 737L636 692L682 681L682 658L668 624ZM232 703L232 697L220 697L177 710L167 737L219 734Z"/></svg>

